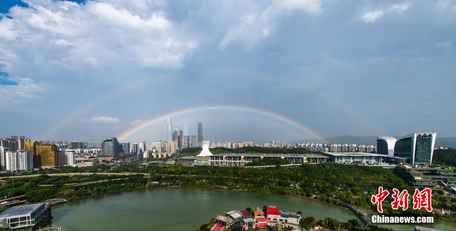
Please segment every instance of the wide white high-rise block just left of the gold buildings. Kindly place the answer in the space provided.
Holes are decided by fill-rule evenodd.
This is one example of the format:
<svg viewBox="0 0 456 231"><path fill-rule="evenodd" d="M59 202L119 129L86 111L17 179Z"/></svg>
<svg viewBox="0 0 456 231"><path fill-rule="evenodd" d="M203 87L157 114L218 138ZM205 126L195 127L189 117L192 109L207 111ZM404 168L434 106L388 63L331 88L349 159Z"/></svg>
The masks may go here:
<svg viewBox="0 0 456 231"><path fill-rule="evenodd" d="M8 151L5 154L7 171L29 171L33 169L32 152L25 150Z"/></svg>

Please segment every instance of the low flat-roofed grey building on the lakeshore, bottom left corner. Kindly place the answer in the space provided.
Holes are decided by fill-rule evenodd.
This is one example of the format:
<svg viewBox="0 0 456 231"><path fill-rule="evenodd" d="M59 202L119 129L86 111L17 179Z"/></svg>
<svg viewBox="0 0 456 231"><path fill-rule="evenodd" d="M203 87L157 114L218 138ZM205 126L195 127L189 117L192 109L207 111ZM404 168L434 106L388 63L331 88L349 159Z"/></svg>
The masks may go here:
<svg viewBox="0 0 456 231"><path fill-rule="evenodd" d="M44 203L20 205L0 213L0 227L11 230L33 230L46 216Z"/></svg>

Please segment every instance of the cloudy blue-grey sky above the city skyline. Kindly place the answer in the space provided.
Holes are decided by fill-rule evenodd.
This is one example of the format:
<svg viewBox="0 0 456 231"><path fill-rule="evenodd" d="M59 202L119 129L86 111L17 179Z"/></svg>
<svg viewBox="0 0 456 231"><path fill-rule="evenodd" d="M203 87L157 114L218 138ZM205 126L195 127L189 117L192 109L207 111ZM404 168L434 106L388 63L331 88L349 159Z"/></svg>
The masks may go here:
<svg viewBox="0 0 456 231"><path fill-rule="evenodd" d="M0 136L101 141L202 105L326 137L456 136L456 1L6 0ZM274 118L173 118L210 140L314 138ZM130 141L166 139L166 121Z"/></svg>

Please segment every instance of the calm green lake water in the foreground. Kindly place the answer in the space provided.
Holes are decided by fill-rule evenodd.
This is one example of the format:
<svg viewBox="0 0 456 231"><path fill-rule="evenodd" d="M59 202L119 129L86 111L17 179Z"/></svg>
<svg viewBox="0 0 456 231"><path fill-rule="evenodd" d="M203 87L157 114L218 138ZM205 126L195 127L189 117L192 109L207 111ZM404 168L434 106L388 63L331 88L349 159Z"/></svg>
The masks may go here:
<svg viewBox="0 0 456 231"><path fill-rule="evenodd" d="M161 188L115 193L53 206L50 226L61 227L63 231L195 231L218 213L224 214L247 206L261 208L263 205L276 205L288 211L301 210L304 216L313 216L317 220L325 217L340 221L360 219L351 210L294 196L201 188ZM456 223L437 222L431 227L456 231ZM412 226L394 228L411 230Z"/></svg>

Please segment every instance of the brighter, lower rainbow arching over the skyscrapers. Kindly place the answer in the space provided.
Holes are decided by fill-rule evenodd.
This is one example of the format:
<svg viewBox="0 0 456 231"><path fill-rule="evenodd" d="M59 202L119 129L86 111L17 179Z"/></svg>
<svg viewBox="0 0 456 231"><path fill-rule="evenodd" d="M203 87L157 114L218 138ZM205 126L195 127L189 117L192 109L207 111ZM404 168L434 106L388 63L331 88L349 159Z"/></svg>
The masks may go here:
<svg viewBox="0 0 456 231"><path fill-rule="evenodd" d="M136 125L133 128L130 128L123 132L122 134L118 135L117 138L118 140L125 140L128 136L138 132L139 130L142 130L144 128L147 128L158 121L165 120L167 117L174 117L174 116L179 116L183 114L189 114L189 113L194 113L194 112L201 112L201 111L213 111L213 110L234 110L234 111L245 111L245 112L251 112L255 114L259 114L262 116L267 116L270 118L277 119L279 121L284 122L285 124L288 124L292 127L299 128L303 130L305 133L312 135L315 138L318 138L322 140L324 143L330 143L325 137L320 135L318 132L312 130L311 128L308 128L307 126L300 124L299 122L292 120L290 118L287 118L283 115L280 115L275 112L271 111L266 111L263 109L258 109L258 108L253 108L253 107L246 107L246 106L237 106L237 105L212 105L212 106L198 106L198 107L191 107L191 108L186 108L174 112L169 112L154 118L151 118L149 120L143 121L140 124Z"/></svg>

